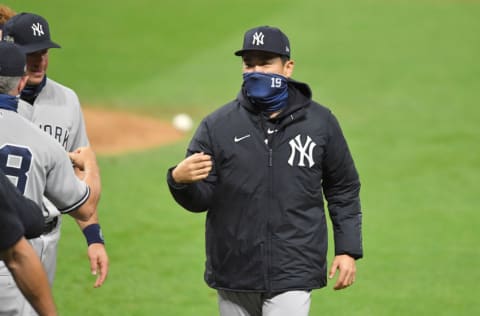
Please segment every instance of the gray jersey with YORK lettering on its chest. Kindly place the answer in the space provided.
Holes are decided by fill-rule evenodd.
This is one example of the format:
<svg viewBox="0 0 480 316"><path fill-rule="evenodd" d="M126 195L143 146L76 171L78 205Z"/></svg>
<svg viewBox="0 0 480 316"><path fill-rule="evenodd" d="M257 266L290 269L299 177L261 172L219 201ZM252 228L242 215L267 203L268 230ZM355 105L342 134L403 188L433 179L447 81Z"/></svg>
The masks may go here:
<svg viewBox="0 0 480 316"><path fill-rule="evenodd" d="M67 151L89 145L76 93L54 80L47 78L33 105L20 100L18 113L50 134Z"/></svg>

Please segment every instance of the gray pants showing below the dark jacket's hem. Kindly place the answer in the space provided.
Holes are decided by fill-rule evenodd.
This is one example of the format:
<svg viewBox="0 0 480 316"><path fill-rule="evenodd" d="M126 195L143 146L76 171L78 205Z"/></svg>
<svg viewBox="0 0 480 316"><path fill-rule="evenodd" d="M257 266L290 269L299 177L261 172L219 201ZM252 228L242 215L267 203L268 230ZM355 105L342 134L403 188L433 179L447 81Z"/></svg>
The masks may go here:
<svg viewBox="0 0 480 316"><path fill-rule="evenodd" d="M278 294L218 290L220 316L308 316L310 291Z"/></svg>

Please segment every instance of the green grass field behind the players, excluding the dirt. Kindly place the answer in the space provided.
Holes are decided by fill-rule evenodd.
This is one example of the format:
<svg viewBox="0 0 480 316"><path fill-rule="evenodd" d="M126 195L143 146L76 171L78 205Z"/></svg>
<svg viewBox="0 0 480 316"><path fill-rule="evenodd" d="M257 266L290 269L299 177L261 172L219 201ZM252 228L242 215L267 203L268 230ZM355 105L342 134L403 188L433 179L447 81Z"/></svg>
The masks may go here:
<svg viewBox="0 0 480 316"><path fill-rule="evenodd" d="M293 77L337 115L362 181L357 281L314 291L311 315L480 315L480 1L3 3L47 18L62 45L48 75L86 109L163 122L186 112L196 125L236 95L244 31L280 27ZM165 183L190 136L99 154L110 274L93 288L84 237L64 217L61 315L217 314L203 282L205 214L182 210Z"/></svg>

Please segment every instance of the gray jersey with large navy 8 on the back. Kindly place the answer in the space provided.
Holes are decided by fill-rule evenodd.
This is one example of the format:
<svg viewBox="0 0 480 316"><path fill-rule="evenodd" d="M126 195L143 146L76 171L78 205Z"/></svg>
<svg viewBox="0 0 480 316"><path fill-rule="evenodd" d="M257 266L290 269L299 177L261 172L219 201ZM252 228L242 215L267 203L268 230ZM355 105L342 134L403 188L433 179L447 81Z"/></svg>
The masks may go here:
<svg viewBox="0 0 480 316"><path fill-rule="evenodd" d="M58 142L18 113L4 109L0 109L0 168L39 205L45 195L67 213L88 199L88 186L75 176Z"/></svg>

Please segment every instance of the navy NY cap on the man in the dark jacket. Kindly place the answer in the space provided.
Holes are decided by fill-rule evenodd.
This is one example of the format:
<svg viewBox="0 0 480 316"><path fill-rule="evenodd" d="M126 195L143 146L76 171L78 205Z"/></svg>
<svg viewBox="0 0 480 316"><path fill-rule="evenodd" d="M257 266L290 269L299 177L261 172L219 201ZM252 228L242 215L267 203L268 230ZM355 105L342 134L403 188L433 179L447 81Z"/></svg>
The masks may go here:
<svg viewBox="0 0 480 316"><path fill-rule="evenodd" d="M243 48L236 51L235 55L243 56L245 52L249 51L264 51L290 58L290 42L280 29L259 26L245 33Z"/></svg>

